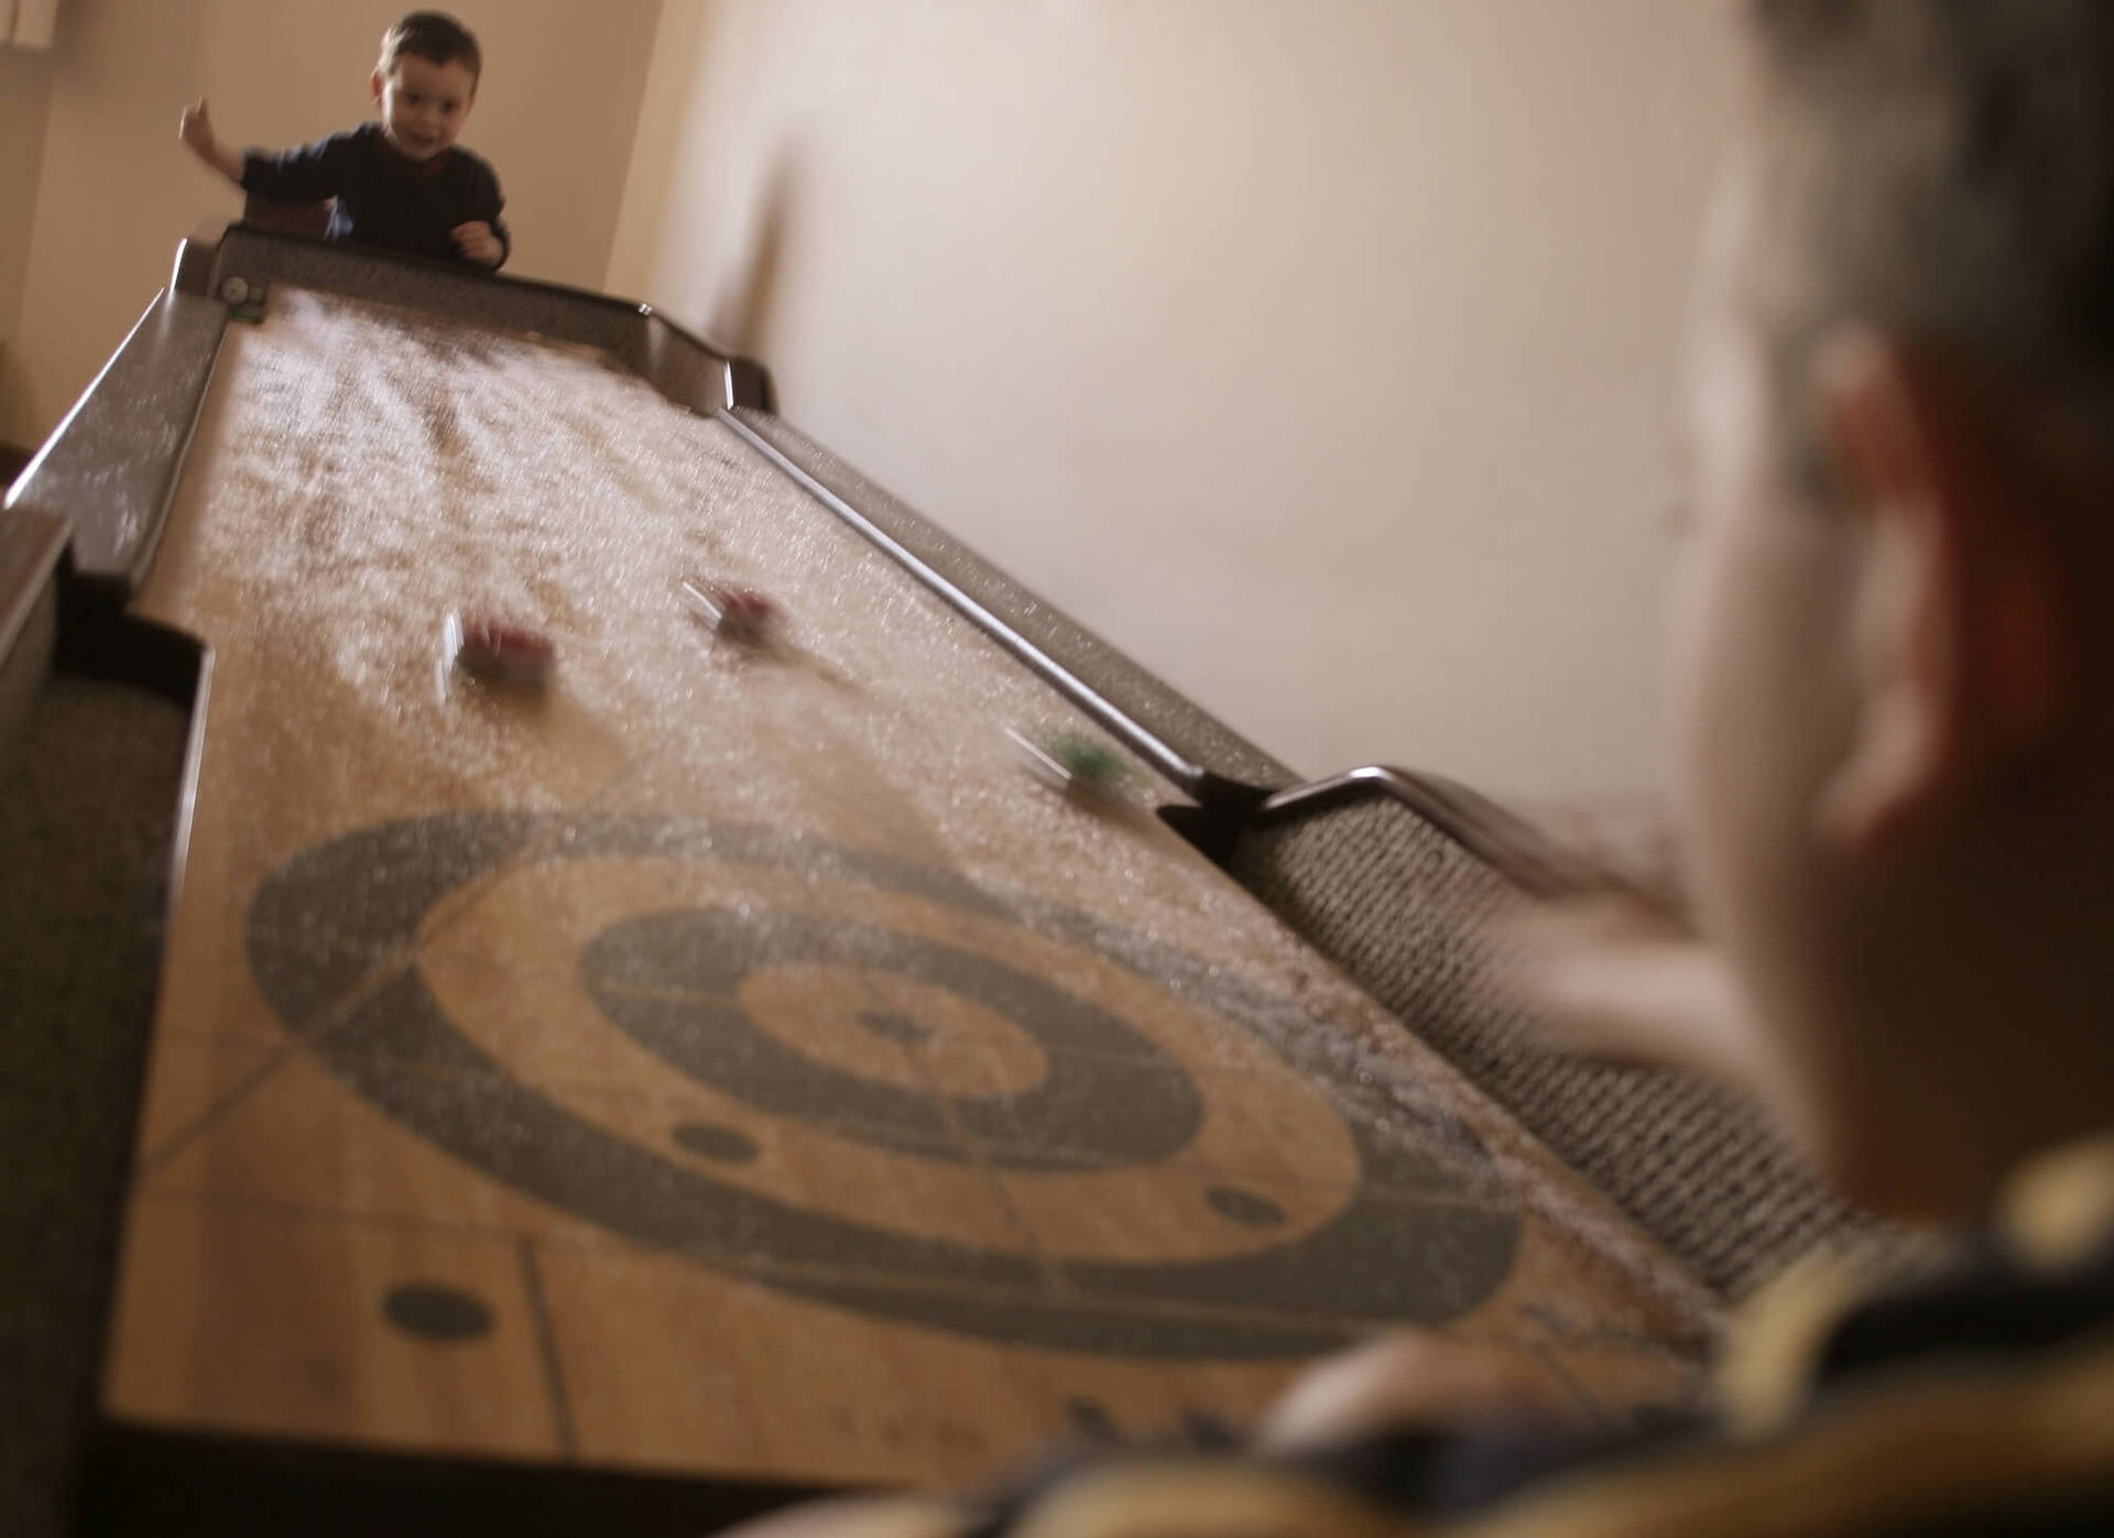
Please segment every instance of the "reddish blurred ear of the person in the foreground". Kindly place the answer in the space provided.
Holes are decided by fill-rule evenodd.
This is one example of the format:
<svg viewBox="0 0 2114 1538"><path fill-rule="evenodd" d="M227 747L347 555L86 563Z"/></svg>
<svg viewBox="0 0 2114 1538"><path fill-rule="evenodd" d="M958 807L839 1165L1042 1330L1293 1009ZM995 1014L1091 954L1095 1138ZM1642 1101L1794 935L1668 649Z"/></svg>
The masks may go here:
<svg viewBox="0 0 2114 1538"><path fill-rule="evenodd" d="M1862 520L1858 725L1822 830L1879 851L1966 805L2067 706L2057 515L1987 397L1856 330L1814 370L1841 515Z"/></svg>

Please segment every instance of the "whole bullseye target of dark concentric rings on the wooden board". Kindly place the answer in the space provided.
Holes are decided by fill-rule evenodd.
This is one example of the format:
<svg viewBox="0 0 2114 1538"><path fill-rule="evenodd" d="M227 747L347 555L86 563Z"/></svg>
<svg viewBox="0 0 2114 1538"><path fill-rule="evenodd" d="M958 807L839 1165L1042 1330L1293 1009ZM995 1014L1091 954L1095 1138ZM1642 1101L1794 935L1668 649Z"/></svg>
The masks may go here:
<svg viewBox="0 0 2114 1538"><path fill-rule="evenodd" d="M651 879L641 889L634 875L630 894L600 911L586 904L594 927L571 957L564 1010L628 1037L681 1077L683 1094L729 1111L685 1115L657 1147L465 1031L440 997L448 957L421 946L435 906L471 883L626 864ZM746 892L776 881L810 900L685 904L683 873L734 875ZM829 913L816 894L865 894L865 913ZM486 900L480 887L467 913ZM1518 1211L1473 1134L1429 1105L1406 1113L1296 1006L1093 915L820 839L622 815L378 824L266 877L247 949L288 1027L427 1141L632 1240L877 1318L1078 1352L1260 1361L1380 1320L1444 1323L1503 1282L1518 1244ZM416 963L355 993L378 955ZM302 1031L338 1001L332 1029ZM801 1023L818 1016L841 1029L801 1039ZM1175 1039L1184 1050L1169 1054ZM860 1058L869 1048L882 1056ZM1222 1236L1216 1253L1080 1249L1055 1257L1053 1284L1049 1257L989 1236L877 1227L769 1185L772 1141L759 1132L863 1147L932 1179L966 1139L1017 1192L1144 1192L1222 1134L1222 1103L1247 1092L1228 1086L1247 1086L1256 1048L1283 1082L1309 1086L1264 1107L1264 1120L1290 1115L1323 1154L1349 1149L1351 1179L1321 1211L1285 1211L1275 1187L1245 1177L1199 1181L1197 1206L1216 1213ZM1241 1069L1213 1065L1220 1050ZM901 1063L928 1052L953 1077L913 1088ZM450 1073L393 1071L404 1061ZM1108 1113L1110 1096L1123 1113ZM1309 1124L1315 1105L1332 1130ZM742 1145L759 1154L742 1162Z"/></svg>

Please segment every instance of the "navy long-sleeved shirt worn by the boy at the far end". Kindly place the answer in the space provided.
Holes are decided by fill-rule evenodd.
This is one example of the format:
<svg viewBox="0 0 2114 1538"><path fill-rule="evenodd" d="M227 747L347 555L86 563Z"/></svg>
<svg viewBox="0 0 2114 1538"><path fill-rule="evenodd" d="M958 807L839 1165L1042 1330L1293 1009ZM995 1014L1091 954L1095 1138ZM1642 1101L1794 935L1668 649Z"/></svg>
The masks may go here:
<svg viewBox="0 0 2114 1538"><path fill-rule="evenodd" d="M490 165L461 146L448 146L431 161L412 161L391 148L378 123L279 154L252 150L243 156L243 192L281 203L336 199L323 230L332 241L463 262L467 258L450 230L484 220L505 247L499 262L514 251L507 226L499 222L505 199Z"/></svg>

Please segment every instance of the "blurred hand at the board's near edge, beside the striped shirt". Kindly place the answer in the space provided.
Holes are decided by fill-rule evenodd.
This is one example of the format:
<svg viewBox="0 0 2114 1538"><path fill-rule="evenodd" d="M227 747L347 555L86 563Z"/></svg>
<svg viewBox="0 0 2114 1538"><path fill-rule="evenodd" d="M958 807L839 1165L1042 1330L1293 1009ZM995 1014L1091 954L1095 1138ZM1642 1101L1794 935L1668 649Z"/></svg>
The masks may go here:
<svg viewBox="0 0 2114 1538"><path fill-rule="evenodd" d="M1271 1407L1256 1449L1287 1453L1389 1428L1571 1422L1583 1407L1520 1348L1391 1331L1309 1367Z"/></svg>

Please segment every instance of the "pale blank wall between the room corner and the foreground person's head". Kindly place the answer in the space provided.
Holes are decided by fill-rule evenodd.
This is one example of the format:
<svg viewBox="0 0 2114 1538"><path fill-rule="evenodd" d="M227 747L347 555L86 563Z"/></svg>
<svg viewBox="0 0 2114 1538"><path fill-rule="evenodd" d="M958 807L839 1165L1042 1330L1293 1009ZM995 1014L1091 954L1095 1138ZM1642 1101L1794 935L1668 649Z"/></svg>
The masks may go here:
<svg viewBox="0 0 2114 1538"><path fill-rule="evenodd" d="M1719 0L668 0L611 287L1309 771L1643 786Z"/></svg>

